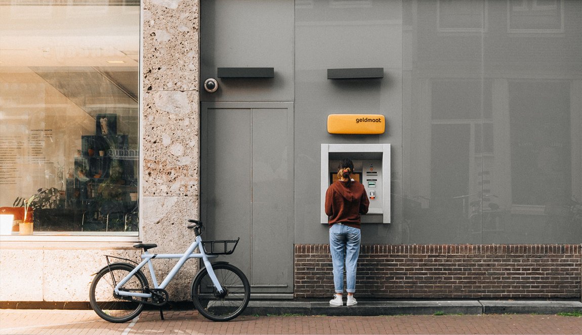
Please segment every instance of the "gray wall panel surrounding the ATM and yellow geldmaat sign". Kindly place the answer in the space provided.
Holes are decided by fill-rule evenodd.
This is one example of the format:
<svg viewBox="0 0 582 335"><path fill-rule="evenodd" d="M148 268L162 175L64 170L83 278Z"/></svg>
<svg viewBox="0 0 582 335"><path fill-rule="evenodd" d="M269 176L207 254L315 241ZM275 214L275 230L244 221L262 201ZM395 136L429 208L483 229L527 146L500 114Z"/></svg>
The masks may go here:
<svg viewBox="0 0 582 335"><path fill-rule="evenodd" d="M350 6L315 1L296 8L296 170L319 171L321 143L390 143L393 175L399 168L402 119L402 4L360 2ZM359 6L361 5L361 6ZM384 78L328 80L327 69L383 67ZM382 135L331 135L329 114L383 114ZM400 182L393 178L392 224L367 224L363 243L400 243ZM320 215L318 175L296 178L296 242L328 243Z"/></svg>

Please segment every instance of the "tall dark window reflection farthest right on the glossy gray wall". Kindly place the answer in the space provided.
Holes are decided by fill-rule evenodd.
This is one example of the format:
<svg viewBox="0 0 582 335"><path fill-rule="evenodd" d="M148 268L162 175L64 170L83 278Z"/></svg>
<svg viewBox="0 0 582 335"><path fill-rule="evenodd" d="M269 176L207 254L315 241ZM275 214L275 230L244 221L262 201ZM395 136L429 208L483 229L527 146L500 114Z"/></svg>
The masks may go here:
<svg viewBox="0 0 582 335"><path fill-rule="evenodd" d="M570 87L567 82L511 82L512 203L553 206L572 192Z"/></svg>

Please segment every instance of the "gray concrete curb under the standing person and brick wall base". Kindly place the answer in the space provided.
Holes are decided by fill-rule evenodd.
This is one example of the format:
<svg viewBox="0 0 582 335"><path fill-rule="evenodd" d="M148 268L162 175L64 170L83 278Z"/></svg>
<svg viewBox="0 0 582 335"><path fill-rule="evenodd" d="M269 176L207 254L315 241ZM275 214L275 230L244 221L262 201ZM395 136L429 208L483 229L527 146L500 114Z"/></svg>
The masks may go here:
<svg viewBox="0 0 582 335"><path fill-rule="evenodd" d="M582 312L580 301L359 301L332 307L328 302L251 301L245 315L434 315L434 314L558 314Z"/></svg>

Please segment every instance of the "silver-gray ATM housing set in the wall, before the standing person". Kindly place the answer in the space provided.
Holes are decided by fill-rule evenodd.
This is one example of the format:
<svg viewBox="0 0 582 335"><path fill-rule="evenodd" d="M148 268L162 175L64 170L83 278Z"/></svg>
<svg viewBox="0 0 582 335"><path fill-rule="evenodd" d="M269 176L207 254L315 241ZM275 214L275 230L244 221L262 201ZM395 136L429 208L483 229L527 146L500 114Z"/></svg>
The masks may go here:
<svg viewBox="0 0 582 335"><path fill-rule="evenodd" d="M370 210L362 215L362 223L391 222L390 145L389 144L328 144L321 145L321 223L327 224L325 192L337 173L339 161L349 158L354 172L370 198Z"/></svg>

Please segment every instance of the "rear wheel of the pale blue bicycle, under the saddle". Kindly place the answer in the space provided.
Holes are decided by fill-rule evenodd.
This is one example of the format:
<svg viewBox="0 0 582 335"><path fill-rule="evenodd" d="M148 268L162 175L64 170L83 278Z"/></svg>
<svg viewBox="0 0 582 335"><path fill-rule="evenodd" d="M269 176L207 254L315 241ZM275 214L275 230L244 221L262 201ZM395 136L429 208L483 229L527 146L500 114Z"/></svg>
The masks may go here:
<svg viewBox="0 0 582 335"><path fill-rule="evenodd" d="M125 278L135 266L126 263L114 263L95 275L89 289L89 301L91 308L102 319L109 322L127 322L138 316L144 308L141 302L129 301L118 297L113 292L115 283ZM122 290L144 293L148 287L147 279L141 271L137 271L129 279ZM147 298L141 298L147 300Z"/></svg>

